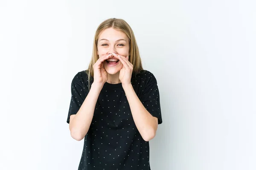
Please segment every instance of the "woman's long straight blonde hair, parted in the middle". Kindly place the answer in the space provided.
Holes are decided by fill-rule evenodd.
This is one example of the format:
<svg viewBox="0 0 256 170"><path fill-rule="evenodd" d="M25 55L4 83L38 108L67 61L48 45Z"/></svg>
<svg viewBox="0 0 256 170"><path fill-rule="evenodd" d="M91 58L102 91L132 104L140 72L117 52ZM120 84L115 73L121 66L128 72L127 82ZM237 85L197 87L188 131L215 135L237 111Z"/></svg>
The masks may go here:
<svg viewBox="0 0 256 170"><path fill-rule="evenodd" d="M99 55L97 55L97 51L98 51L97 45L98 45L99 34L107 28L114 28L114 29L116 29L118 31L122 31L123 33L126 34L126 36L129 39L129 44L130 44L129 62L131 62L131 64L133 65L133 73L138 74L140 71L143 70L141 59L140 59L139 48L137 46L137 42L136 42L136 39L135 39L135 36L134 36L134 33L133 33L131 27L128 25L128 23L125 22L125 20L110 18L108 20L103 21L98 26L95 36L94 36L93 54L92 54L92 58L90 60L89 67L87 69L89 89L90 89L90 77L94 76L93 65L99 59Z"/></svg>

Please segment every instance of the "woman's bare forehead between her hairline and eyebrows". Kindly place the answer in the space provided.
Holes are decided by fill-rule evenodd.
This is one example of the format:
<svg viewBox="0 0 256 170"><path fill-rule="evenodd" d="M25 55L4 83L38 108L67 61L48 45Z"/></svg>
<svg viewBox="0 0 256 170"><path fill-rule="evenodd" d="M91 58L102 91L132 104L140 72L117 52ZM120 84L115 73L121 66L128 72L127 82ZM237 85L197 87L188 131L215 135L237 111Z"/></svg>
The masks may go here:
<svg viewBox="0 0 256 170"><path fill-rule="evenodd" d="M107 29L103 30L99 34L99 40L101 40L103 38L105 38L109 41L116 41L116 40L119 40L119 39L128 40L128 37L126 36L125 33L123 33L122 31L118 31L116 29L113 29L113 28L107 28Z"/></svg>

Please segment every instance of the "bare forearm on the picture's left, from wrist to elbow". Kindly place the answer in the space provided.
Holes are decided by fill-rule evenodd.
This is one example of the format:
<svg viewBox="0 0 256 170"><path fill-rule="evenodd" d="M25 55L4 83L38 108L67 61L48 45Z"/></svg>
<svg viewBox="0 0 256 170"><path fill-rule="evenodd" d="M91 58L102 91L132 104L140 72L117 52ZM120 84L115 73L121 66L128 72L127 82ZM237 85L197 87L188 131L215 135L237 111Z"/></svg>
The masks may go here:
<svg viewBox="0 0 256 170"><path fill-rule="evenodd" d="M103 85L92 84L79 111L74 116L72 122L70 121L70 133L74 139L81 140L87 134L102 86Z"/></svg>

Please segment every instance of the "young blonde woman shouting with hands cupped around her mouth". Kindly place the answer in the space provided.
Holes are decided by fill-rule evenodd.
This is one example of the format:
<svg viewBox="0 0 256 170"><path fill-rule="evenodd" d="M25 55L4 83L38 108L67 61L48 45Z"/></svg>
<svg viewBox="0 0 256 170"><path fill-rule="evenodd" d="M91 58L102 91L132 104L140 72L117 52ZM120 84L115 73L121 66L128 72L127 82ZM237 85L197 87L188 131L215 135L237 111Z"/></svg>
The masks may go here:
<svg viewBox="0 0 256 170"><path fill-rule="evenodd" d="M143 70L131 27L99 25L89 68L72 80L67 123L84 148L79 170L150 170L149 143L162 123L154 75Z"/></svg>

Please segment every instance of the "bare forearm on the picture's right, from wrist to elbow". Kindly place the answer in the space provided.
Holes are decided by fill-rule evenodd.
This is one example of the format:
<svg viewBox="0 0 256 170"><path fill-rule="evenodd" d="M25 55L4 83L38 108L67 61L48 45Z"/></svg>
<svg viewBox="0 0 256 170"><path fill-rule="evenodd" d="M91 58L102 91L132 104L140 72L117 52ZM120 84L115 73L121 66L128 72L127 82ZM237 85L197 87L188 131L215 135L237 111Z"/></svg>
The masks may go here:
<svg viewBox="0 0 256 170"><path fill-rule="evenodd" d="M157 124L154 117L145 109L144 105L138 98L131 84L123 86L134 123L145 141L154 138Z"/></svg>

